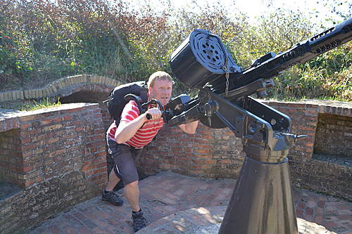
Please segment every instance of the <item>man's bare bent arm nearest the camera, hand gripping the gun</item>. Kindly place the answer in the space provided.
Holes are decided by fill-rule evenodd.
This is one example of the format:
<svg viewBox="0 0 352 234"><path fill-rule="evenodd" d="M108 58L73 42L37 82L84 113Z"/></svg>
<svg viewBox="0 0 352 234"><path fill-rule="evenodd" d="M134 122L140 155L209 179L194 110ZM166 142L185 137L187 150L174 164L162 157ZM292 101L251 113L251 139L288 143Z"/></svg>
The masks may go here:
<svg viewBox="0 0 352 234"><path fill-rule="evenodd" d="M139 117L133 119L131 122L120 122L118 124L118 129L115 132L116 143L122 144L129 141L134 134L140 129L144 122L146 122L146 114L150 114L152 119L160 119L161 111L158 108L151 108L147 110L144 114L139 115Z"/></svg>

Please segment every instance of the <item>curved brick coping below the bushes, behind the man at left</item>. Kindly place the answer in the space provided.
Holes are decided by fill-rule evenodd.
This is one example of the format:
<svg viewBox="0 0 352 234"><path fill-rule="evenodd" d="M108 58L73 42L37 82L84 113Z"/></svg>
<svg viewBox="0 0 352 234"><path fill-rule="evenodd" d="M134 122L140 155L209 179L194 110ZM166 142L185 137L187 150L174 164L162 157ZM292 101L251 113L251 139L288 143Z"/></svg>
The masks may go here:
<svg viewBox="0 0 352 234"><path fill-rule="evenodd" d="M80 74L72 77L57 79L41 89L13 90L0 92L0 103L11 100L30 100L60 96L61 93L71 94L75 89L87 84L100 84L109 89L121 84L116 79L96 75ZM68 91L65 91L68 89Z"/></svg>

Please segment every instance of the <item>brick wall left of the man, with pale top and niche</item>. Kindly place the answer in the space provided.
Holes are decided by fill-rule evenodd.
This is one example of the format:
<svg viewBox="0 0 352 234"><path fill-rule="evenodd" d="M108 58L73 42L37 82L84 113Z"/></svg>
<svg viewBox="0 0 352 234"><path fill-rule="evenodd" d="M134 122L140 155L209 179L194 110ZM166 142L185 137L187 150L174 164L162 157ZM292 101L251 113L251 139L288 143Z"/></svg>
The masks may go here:
<svg viewBox="0 0 352 234"><path fill-rule="evenodd" d="M98 104L72 103L33 112L1 112L0 127L0 137L6 139L1 145L7 145L1 148L1 154L9 152L10 157L16 158L15 164L20 165L1 167L10 167L8 170L19 176L23 188L0 200L0 233L20 233L98 195L106 184L105 129ZM15 140L10 144L8 139ZM17 144L21 154L16 151ZM13 182L5 176L3 179Z"/></svg>

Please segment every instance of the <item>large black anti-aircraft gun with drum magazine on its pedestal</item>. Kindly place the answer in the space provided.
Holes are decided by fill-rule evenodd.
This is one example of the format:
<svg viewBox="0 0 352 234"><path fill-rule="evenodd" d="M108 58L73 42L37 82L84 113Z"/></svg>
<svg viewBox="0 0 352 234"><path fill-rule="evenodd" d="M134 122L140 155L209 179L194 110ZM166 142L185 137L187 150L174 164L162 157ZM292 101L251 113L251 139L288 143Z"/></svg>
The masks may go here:
<svg viewBox="0 0 352 234"><path fill-rule="evenodd" d="M170 56L175 77L196 98L178 96L165 106L170 126L200 120L214 129L229 127L242 138L246 159L219 233L298 233L287 155L297 138L291 119L251 98L265 95L272 77L352 39L352 19L296 44L268 53L241 70L219 37L194 30Z"/></svg>

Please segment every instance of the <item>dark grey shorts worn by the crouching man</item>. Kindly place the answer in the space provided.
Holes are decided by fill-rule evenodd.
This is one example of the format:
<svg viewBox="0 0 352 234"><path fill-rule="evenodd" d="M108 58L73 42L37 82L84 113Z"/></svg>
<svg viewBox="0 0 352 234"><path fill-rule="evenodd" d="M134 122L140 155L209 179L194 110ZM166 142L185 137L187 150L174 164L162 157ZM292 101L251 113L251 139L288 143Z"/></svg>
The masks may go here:
<svg viewBox="0 0 352 234"><path fill-rule="evenodd" d="M108 152L113 157L113 171L122 180L124 186L133 181L138 181L138 173L134 159L141 153L141 149L135 149L125 144L118 144L107 137Z"/></svg>

